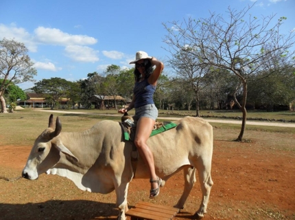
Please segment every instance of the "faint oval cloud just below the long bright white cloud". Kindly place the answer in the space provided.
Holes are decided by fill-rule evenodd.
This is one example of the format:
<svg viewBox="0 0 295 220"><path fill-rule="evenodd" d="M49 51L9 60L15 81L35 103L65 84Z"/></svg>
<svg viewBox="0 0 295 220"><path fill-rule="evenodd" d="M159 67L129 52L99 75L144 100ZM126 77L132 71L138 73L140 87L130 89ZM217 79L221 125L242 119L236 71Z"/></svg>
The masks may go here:
<svg viewBox="0 0 295 220"><path fill-rule="evenodd" d="M93 50L88 46L70 45L64 49L67 57L75 61L80 62L92 62L99 61L97 57L98 51Z"/></svg>

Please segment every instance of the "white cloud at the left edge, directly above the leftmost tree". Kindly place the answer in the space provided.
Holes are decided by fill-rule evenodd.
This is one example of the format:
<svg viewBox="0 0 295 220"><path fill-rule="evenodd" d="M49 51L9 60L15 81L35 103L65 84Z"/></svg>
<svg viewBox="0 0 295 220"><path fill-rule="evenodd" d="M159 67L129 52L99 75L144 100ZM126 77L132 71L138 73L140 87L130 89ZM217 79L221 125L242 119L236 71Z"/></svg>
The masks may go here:
<svg viewBox="0 0 295 220"><path fill-rule="evenodd" d="M37 51L37 44L34 42L32 35L24 28L16 27L14 23L11 23L9 26L0 24L0 39L3 38L22 42L31 52Z"/></svg>

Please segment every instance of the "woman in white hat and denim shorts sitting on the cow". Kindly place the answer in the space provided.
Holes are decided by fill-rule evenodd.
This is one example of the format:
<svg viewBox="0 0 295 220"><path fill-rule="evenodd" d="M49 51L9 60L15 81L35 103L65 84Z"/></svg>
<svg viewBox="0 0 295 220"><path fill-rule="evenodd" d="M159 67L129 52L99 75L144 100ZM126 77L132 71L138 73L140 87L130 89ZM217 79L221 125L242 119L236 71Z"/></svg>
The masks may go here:
<svg viewBox="0 0 295 220"><path fill-rule="evenodd" d="M138 121L134 143L145 161L145 165L150 169L150 198L152 199L160 192L162 180L156 176L154 156L146 142L152 133L154 123L158 117L158 109L154 105L153 95L164 64L155 57L149 57L144 51L138 51L136 59L131 61L130 64L135 64L134 95L130 105L127 108L119 109L118 112L126 113L130 109L135 108L135 117ZM156 68L153 68L153 66L156 66Z"/></svg>

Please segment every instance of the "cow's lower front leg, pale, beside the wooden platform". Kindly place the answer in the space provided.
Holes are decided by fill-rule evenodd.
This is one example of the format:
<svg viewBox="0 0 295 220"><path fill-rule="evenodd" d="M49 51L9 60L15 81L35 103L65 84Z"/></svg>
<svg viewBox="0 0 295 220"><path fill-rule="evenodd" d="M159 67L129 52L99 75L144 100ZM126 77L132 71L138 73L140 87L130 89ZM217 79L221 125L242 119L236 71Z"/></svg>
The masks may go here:
<svg viewBox="0 0 295 220"><path fill-rule="evenodd" d="M119 208L119 220L126 220L125 213L128 211L127 194L129 182L121 182L118 187L115 187L117 202L116 206Z"/></svg>

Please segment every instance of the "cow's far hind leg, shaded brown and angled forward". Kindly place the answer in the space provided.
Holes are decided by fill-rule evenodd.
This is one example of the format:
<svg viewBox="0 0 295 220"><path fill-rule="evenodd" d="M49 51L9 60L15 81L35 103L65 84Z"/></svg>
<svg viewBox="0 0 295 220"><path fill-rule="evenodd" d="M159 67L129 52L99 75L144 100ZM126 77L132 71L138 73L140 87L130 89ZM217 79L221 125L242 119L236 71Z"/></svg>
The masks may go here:
<svg viewBox="0 0 295 220"><path fill-rule="evenodd" d="M193 185L197 181L196 168L193 168L191 166L185 167L183 169L183 176L185 178L185 188L183 189L183 193L177 204L174 206L175 208L183 208L185 206L187 197L189 197L189 193L191 192L191 189L193 189Z"/></svg>

